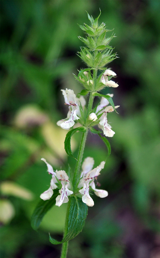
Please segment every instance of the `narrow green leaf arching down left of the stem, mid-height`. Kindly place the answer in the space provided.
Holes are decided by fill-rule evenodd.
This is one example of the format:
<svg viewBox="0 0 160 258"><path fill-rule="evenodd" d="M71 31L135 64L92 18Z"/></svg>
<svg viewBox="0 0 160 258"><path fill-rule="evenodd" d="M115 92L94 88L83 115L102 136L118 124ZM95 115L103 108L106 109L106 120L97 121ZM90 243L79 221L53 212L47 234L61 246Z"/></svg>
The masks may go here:
<svg viewBox="0 0 160 258"><path fill-rule="evenodd" d="M85 132L86 131L86 128L84 126L82 127L77 127L71 131L69 131L67 134L66 134L66 138L65 138L65 151L66 153L70 156L70 157L73 157L73 153L72 153L72 150L71 150L71 136L77 132L77 131L81 131L81 132Z"/></svg>

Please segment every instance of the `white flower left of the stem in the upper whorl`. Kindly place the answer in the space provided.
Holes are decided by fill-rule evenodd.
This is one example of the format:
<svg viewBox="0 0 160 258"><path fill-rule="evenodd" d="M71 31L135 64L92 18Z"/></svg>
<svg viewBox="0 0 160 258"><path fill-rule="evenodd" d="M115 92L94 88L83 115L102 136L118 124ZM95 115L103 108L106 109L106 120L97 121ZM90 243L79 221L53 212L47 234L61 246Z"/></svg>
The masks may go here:
<svg viewBox="0 0 160 258"><path fill-rule="evenodd" d="M66 119L59 120L57 122L58 126L68 130L75 124L75 120L78 120L81 116L79 105L81 103L82 107L85 105L85 99L83 96L76 98L74 91L71 89L61 90L65 98L65 104L69 105L69 112Z"/></svg>

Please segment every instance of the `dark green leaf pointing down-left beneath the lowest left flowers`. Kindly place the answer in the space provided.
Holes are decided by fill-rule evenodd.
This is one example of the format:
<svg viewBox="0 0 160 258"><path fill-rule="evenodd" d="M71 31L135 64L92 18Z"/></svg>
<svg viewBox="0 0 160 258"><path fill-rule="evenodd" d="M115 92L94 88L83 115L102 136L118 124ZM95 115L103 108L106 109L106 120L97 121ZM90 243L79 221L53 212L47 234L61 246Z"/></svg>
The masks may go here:
<svg viewBox="0 0 160 258"><path fill-rule="evenodd" d="M54 190L54 193L49 200L40 200L31 217L31 226L34 230L37 230L39 228L40 222L42 221L44 215L56 203L57 196L58 190Z"/></svg>

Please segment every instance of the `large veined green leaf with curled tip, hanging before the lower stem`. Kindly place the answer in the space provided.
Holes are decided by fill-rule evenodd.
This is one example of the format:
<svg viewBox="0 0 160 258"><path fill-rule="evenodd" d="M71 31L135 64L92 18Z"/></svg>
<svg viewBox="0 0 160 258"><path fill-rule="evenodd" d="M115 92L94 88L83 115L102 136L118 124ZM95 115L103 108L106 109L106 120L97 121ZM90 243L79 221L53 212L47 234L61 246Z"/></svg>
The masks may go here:
<svg viewBox="0 0 160 258"><path fill-rule="evenodd" d="M85 225L87 211L88 207L85 203L82 202L81 198L71 196L67 234L61 242L56 241L51 236L49 236L50 243L52 243L53 245L58 245L67 242L77 236L82 231Z"/></svg>

